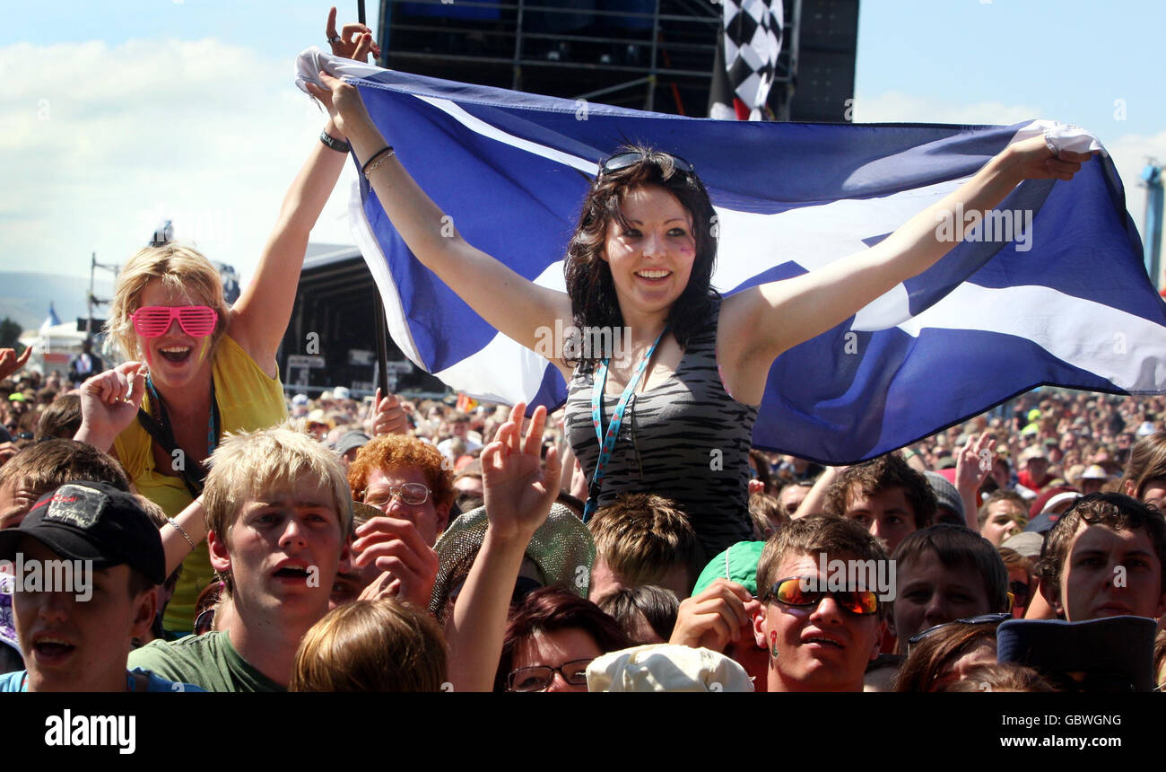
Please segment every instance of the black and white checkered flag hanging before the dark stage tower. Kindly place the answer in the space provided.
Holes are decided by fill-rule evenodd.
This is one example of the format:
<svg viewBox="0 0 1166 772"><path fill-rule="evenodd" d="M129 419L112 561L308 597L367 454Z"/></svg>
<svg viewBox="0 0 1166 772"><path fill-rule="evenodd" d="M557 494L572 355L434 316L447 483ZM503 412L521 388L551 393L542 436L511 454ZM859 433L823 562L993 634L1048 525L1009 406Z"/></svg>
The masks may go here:
<svg viewBox="0 0 1166 772"><path fill-rule="evenodd" d="M781 0L721 0L709 118L760 120L781 51Z"/></svg>

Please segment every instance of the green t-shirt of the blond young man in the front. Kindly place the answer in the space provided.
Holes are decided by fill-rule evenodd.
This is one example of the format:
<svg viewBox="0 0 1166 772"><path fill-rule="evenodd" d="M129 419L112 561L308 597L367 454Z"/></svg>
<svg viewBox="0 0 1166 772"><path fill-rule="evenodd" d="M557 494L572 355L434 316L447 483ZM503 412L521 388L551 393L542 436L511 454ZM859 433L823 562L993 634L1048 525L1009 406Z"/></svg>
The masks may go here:
<svg viewBox="0 0 1166 772"><path fill-rule="evenodd" d="M135 667L208 692L287 692L243 659L223 631L152 641L129 652L129 668Z"/></svg>

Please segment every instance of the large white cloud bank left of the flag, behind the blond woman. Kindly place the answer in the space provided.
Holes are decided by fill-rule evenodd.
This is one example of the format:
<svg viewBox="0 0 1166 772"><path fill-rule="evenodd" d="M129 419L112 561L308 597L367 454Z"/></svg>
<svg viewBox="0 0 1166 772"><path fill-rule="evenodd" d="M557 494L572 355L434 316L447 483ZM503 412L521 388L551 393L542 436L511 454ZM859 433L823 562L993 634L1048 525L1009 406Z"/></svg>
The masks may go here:
<svg viewBox="0 0 1166 772"><path fill-rule="evenodd" d="M324 114L294 62L203 41L0 48L0 271L87 274L164 213L176 236L250 279ZM350 243L351 167L312 240Z"/></svg>

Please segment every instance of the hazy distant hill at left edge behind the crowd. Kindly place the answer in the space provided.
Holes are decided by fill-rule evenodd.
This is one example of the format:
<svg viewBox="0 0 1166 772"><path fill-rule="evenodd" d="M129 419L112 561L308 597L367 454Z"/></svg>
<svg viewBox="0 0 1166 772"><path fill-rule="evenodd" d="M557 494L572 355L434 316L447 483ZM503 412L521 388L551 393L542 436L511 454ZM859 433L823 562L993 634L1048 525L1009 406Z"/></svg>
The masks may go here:
<svg viewBox="0 0 1166 772"><path fill-rule="evenodd" d="M40 329L49 315L49 303L62 322L85 316L89 279L61 276L50 273L0 272L0 318L9 317L26 330ZM113 282L98 279L93 294L107 300L113 294ZM93 316L105 318L108 306L97 307Z"/></svg>

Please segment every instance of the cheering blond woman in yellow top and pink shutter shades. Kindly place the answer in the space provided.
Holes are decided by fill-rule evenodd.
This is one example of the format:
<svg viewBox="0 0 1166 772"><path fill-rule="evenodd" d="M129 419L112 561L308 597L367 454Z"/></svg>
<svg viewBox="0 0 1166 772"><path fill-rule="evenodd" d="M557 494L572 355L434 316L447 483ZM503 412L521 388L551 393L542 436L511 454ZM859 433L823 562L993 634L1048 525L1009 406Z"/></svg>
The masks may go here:
<svg viewBox="0 0 1166 772"><path fill-rule="evenodd" d="M332 52L364 61L366 27L344 37L329 22ZM202 490L203 462L229 431L287 417L275 352L295 301L308 234L347 159L342 129L329 120L293 181L255 276L229 307L223 281L197 251L167 244L140 251L118 275L108 334L129 359L86 380L76 438L112 452L134 486L171 518L163 540L194 552L167 608L166 626L190 631L198 591L213 577L197 518L175 518Z"/></svg>

